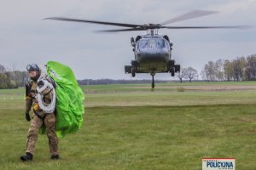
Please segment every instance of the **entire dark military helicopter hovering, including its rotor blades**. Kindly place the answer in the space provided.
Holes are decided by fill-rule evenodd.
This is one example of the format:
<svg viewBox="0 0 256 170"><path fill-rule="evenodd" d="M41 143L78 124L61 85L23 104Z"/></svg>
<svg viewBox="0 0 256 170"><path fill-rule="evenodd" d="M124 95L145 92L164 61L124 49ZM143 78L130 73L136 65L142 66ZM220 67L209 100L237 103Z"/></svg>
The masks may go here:
<svg viewBox="0 0 256 170"><path fill-rule="evenodd" d="M63 20L73 22L86 22L92 24L110 25L110 26L123 26L128 27L124 29L103 30L106 32L118 32L118 31L147 31L146 35L139 35L134 39L131 37L131 46L134 52L135 58L131 60L131 65L125 65L125 73L131 73L132 77L136 76L136 73L149 73L152 76L152 88L154 88L154 75L156 73L170 72L174 77L175 72L180 71L180 65L175 64L175 60L172 59L172 42L166 35L159 35L158 30L162 28L166 29L216 29L216 28L243 28L245 26L166 26L168 24L175 23L177 21L189 20L196 17L201 17L208 14L217 13L215 11L206 10L194 10L187 14L183 14L171 20L166 20L161 24L125 24L115 22L104 22L96 20L77 20L63 17L51 17L44 20Z"/></svg>

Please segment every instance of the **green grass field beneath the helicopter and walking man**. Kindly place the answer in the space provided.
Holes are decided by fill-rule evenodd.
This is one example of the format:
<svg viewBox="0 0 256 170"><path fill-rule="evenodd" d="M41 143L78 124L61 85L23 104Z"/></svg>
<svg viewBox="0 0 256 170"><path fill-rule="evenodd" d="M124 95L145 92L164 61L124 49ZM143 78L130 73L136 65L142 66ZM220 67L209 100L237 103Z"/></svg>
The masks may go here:
<svg viewBox="0 0 256 170"><path fill-rule="evenodd" d="M256 169L256 82L149 86L82 87L84 124L60 139L61 160L49 160L40 135L31 163L19 159L29 127L24 89L0 90L0 169L198 170L203 157L233 157L236 169Z"/></svg>

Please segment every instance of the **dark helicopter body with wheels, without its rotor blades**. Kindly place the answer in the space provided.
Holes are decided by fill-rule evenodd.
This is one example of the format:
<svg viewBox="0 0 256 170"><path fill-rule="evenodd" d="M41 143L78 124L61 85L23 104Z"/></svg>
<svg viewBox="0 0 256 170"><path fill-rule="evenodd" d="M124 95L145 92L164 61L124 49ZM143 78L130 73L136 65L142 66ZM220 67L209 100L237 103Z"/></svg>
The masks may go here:
<svg viewBox="0 0 256 170"><path fill-rule="evenodd" d="M171 58L172 45L168 36L159 35L154 29L146 35L137 36L136 40L131 37L134 60L131 60L131 65L125 65L125 73L131 73L131 77L135 77L136 73L150 73L151 88L154 88L156 73L171 72L174 77L175 72L180 71L180 65L175 65L175 60Z"/></svg>

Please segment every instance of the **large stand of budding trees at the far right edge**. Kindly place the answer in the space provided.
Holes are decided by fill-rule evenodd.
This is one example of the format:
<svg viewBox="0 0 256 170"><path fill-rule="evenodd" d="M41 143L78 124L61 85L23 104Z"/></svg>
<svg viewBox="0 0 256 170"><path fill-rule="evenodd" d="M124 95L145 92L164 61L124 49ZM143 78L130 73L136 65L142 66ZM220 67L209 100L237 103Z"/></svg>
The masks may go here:
<svg viewBox="0 0 256 170"><path fill-rule="evenodd" d="M256 54L241 56L236 59L218 59L209 61L201 71L206 81L255 81Z"/></svg>

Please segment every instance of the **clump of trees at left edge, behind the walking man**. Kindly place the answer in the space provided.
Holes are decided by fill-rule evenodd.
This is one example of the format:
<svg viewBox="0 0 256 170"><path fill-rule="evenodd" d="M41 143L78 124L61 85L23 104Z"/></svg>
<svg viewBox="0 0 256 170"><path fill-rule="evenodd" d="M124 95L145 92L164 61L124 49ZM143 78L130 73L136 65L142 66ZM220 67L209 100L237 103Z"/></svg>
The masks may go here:
<svg viewBox="0 0 256 170"><path fill-rule="evenodd" d="M26 71L10 71L0 64L0 89L25 86L27 80Z"/></svg>

